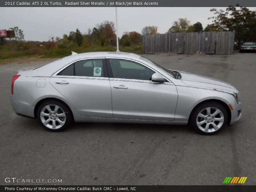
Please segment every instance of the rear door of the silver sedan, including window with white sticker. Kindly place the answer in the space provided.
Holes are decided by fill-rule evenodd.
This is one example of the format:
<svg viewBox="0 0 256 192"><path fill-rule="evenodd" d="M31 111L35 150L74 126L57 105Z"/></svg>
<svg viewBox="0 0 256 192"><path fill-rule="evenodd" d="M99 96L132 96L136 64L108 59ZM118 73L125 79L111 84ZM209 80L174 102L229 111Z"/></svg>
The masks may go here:
<svg viewBox="0 0 256 192"><path fill-rule="evenodd" d="M111 90L105 58L78 60L56 72L50 83L81 116L112 117Z"/></svg>

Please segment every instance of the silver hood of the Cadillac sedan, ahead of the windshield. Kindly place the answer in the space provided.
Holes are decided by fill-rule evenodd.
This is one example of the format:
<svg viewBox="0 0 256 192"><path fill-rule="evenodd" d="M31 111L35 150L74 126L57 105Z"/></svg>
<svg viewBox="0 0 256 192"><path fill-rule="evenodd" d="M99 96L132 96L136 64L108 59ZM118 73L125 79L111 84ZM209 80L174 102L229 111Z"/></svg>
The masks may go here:
<svg viewBox="0 0 256 192"><path fill-rule="evenodd" d="M238 93L236 87L234 87L233 85L225 81L215 79L212 77L203 76L203 75L196 75L193 73L183 72L183 71L179 71L179 73L182 76L180 81L182 81L187 85L200 87L200 88L207 88L207 89L220 89L223 91Z"/></svg>

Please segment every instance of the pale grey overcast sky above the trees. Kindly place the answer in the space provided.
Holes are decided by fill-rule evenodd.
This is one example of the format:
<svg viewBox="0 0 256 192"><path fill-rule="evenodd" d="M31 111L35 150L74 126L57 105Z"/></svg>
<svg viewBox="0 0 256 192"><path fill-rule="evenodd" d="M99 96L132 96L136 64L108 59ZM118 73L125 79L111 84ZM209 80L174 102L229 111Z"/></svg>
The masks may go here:
<svg viewBox="0 0 256 192"><path fill-rule="evenodd" d="M211 24L208 20L213 16L211 8L118 7L118 36L125 31L141 33L143 27L152 25L158 27L159 33L165 33L179 18L187 18L191 24L201 22L204 28ZM62 38L76 28L84 33L105 20L116 22L115 7L0 7L0 18L0 29L18 26L24 31L25 40L32 41L48 41L52 36Z"/></svg>

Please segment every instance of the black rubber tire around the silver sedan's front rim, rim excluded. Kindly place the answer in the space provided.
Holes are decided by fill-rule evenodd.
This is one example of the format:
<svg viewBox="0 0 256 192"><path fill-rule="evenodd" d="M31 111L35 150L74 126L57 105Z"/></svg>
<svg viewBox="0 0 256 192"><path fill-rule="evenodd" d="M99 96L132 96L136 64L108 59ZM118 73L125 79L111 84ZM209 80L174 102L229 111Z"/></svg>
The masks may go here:
<svg viewBox="0 0 256 192"><path fill-rule="evenodd" d="M215 132L204 132L201 129L199 129L197 124L196 124L196 118L197 118L198 113L201 110L203 110L204 108L207 108L207 107L218 108L218 109L221 110L221 112L224 115L223 125L220 127L220 129L218 129ZM196 108L192 111L189 121L190 121L190 125L192 126L192 128L194 130L196 130L197 132L199 132L199 133L201 133L203 135L213 135L213 134L216 134L216 133L220 132L226 126L226 124L228 122L228 113L227 113L227 110L223 107L223 105L221 105L218 102L214 102L214 101L204 102L204 103L201 103L198 106L196 106Z"/></svg>

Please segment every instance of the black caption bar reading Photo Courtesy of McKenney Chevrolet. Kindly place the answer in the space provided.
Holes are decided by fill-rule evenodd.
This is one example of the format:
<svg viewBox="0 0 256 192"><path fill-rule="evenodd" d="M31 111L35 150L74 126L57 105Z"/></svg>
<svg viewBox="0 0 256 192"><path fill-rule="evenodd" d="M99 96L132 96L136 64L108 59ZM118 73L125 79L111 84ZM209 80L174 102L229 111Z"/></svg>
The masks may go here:
<svg viewBox="0 0 256 192"><path fill-rule="evenodd" d="M1 192L255 192L256 185L1 185Z"/></svg>

